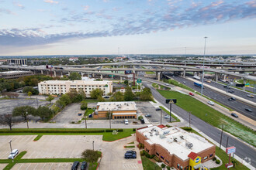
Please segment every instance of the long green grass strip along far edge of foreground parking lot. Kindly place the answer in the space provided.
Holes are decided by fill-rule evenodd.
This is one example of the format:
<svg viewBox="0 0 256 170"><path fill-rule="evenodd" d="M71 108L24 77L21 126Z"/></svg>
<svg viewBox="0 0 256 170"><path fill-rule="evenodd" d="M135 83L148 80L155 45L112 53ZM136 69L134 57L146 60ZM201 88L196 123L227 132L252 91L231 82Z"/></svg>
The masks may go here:
<svg viewBox="0 0 256 170"><path fill-rule="evenodd" d="M47 132L40 133L40 130L47 130ZM68 132L65 132L68 130ZM76 132L78 130L79 132ZM81 132L81 131L85 132ZM112 134L112 132L86 132L86 131L97 131L97 130L105 130L105 129L12 129L12 132L6 132L6 129L0 130L0 135L103 135L103 141L116 141L121 138L129 137L131 134L134 134L135 131L133 129L123 129L122 132L118 132L118 134ZM1 131L5 131L5 133L1 133ZM26 132L27 131L27 132ZM35 132L33 132L35 131ZM50 132L54 131L54 132ZM73 132L72 132L73 131Z"/></svg>

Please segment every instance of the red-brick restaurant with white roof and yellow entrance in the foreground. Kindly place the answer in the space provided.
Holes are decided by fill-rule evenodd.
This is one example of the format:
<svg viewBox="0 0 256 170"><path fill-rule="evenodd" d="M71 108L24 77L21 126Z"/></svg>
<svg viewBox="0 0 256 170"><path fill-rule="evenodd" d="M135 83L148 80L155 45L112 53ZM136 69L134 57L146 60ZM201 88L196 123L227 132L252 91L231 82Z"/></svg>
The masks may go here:
<svg viewBox="0 0 256 170"><path fill-rule="evenodd" d="M176 169L208 169L202 163L215 156L215 145L178 127L149 125L137 129L136 137L138 142L144 144L145 151Z"/></svg>

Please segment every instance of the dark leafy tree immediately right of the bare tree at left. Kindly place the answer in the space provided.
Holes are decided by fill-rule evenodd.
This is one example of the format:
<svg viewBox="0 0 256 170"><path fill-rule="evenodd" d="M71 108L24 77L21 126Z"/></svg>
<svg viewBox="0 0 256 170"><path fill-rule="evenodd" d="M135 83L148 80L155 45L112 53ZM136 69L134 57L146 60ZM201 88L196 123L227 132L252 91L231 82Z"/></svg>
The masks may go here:
<svg viewBox="0 0 256 170"><path fill-rule="evenodd" d="M36 114L36 109L34 107L31 107L31 106L15 107L12 110L12 116L13 117L21 116L21 117L24 118L25 121L26 121L26 118L27 118L28 115L35 115L35 114Z"/></svg>

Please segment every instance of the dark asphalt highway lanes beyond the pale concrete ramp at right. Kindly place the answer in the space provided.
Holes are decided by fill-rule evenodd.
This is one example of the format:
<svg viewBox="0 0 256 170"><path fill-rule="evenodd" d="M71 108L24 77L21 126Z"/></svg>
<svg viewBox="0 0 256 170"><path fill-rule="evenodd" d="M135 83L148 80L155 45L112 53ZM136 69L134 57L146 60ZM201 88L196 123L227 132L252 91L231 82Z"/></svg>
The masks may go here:
<svg viewBox="0 0 256 170"><path fill-rule="evenodd" d="M187 80L187 79L183 78L182 76L173 76L171 78L175 79L176 81L178 81L180 83L183 83L185 81L185 85L187 87L190 87L190 88L192 88L196 91L199 91L199 93L201 91L200 87L196 87L194 85L194 81ZM208 83L208 84L212 85L212 83ZM225 89L223 86L222 86L222 88ZM237 95L237 93L238 93L237 91L233 94ZM244 116L250 117L251 119L256 121L256 107L251 106L251 104L246 104L246 103L244 103L243 101L240 101L240 100L230 101L230 100L228 100L230 97L227 96L225 93L217 92L217 91L212 90L208 87L205 87L203 89L203 94L206 95L207 97L212 98L213 100L216 100L216 101L220 102L220 104L224 104L225 106L230 107L233 110L236 110L240 114L244 114ZM248 98L249 97L247 97L246 99L248 99ZM250 108L252 110L252 112L248 112L247 110L245 110L245 108Z"/></svg>

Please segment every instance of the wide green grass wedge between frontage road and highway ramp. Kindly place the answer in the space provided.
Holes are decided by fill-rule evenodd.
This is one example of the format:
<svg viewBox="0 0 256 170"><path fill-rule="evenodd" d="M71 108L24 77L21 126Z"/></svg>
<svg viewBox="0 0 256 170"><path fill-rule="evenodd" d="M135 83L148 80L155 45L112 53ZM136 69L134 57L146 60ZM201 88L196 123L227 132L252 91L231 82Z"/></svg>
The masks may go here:
<svg viewBox="0 0 256 170"><path fill-rule="evenodd" d="M233 134L236 137L246 141L247 143L256 146L256 133L250 128L245 127L243 124L234 121L232 118L221 114L219 111L214 110L206 104L202 104L199 100L195 100L189 95L178 93L175 91L158 90L159 93L165 98L175 98L177 99L178 107L190 111L196 117L199 117L203 121L217 128L221 128L224 125L224 131ZM188 115L189 116L189 115Z"/></svg>

